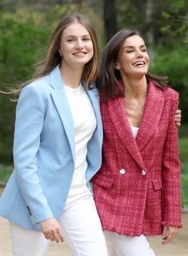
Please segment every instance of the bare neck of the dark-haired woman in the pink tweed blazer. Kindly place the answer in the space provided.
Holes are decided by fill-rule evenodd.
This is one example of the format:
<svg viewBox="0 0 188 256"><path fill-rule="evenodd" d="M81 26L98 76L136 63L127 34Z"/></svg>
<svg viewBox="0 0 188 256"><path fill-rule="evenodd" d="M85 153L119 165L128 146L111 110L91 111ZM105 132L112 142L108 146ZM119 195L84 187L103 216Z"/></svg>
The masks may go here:
<svg viewBox="0 0 188 256"><path fill-rule="evenodd" d="M147 93L147 82L146 77L142 78L122 78L122 82L125 88L126 98L142 98L146 97Z"/></svg>

